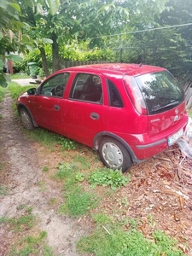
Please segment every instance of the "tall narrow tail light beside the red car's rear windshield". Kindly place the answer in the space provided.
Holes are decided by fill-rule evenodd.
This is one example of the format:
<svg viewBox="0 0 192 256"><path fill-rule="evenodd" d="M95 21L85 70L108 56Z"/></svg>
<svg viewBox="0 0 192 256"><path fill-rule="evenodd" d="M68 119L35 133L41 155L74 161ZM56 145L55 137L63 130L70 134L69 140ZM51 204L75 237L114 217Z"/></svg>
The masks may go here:
<svg viewBox="0 0 192 256"><path fill-rule="evenodd" d="M130 96L133 106L137 109L138 113L147 115L148 111L143 98L143 94L139 89L136 80L128 75L125 75L123 81L125 84L125 90Z"/></svg>

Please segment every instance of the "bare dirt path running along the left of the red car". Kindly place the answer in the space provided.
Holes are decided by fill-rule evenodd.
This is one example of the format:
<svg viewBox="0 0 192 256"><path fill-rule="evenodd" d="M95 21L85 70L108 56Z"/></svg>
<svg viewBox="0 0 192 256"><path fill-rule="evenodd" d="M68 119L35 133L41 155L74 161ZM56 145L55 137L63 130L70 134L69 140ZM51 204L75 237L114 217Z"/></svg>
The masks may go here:
<svg viewBox="0 0 192 256"><path fill-rule="evenodd" d="M23 127L18 118L14 117L11 108L13 101L9 96L0 104L0 156L3 162L3 171L0 172L1 185L9 190L9 195L0 197L0 217L3 215L15 217L20 215L20 206L33 207L32 213L38 216L40 229L48 232L48 243L58 255L77 256L75 242L79 236L86 234L89 227L83 228L75 219L56 214L55 209L49 206L51 198L62 201L62 188L57 183L46 182L44 185L43 166L51 166L55 156L43 159L38 155L39 146L26 139ZM52 163L51 163L52 161ZM58 156L59 162L59 156ZM57 164L58 164L57 162ZM7 255L13 234L0 226L0 255Z"/></svg>

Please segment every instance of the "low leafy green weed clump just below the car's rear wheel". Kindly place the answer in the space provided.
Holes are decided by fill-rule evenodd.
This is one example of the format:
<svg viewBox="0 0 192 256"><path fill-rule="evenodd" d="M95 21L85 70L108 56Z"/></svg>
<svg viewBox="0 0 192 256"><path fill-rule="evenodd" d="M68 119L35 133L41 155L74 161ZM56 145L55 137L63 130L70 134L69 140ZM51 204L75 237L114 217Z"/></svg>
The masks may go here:
<svg viewBox="0 0 192 256"><path fill-rule="evenodd" d="M110 186L111 189L116 189L125 186L129 178L125 177L122 172L104 169L91 173L88 181L93 186Z"/></svg>

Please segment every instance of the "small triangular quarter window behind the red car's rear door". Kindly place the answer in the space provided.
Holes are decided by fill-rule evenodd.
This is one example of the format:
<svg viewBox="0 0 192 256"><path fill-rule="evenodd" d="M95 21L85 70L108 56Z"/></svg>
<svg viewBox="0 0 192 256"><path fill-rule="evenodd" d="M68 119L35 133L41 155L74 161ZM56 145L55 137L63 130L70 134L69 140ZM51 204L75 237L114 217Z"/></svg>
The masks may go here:
<svg viewBox="0 0 192 256"><path fill-rule="evenodd" d="M119 95L119 91L117 90L116 86L108 80L108 93L109 93L109 104L112 107L116 108L123 108L124 104L122 102L122 99Z"/></svg>

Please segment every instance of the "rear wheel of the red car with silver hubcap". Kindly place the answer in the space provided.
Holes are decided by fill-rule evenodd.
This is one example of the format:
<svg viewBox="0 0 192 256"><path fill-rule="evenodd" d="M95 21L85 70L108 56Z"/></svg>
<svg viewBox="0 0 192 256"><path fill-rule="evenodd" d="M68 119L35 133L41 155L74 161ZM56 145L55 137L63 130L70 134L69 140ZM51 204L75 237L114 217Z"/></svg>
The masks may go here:
<svg viewBox="0 0 192 256"><path fill-rule="evenodd" d="M99 145L99 155L105 166L125 172L132 165L131 155L124 145L112 137L104 137Z"/></svg>

